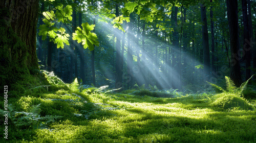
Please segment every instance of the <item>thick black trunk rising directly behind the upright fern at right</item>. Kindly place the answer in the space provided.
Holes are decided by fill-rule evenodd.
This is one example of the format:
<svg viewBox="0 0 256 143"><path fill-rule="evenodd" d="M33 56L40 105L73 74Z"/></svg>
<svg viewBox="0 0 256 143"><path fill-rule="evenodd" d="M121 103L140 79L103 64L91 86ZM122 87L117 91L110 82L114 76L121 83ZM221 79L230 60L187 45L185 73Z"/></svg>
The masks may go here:
<svg viewBox="0 0 256 143"><path fill-rule="evenodd" d="M237 86L242 83L239 63L238 1L227 0L227 18L230 34L231 71L230 78Z"/></svg>

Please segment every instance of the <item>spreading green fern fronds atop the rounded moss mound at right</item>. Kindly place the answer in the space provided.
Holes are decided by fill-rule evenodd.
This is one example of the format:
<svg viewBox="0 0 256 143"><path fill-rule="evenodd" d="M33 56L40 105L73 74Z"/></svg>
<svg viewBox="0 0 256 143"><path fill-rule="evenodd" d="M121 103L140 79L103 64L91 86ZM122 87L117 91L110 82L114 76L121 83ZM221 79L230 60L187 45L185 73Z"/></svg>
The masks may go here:
<svg viewBox="0 0 256 143"><path fill-rule="evenodd" d="M234 82L232 81L231 78L225 76L225 79L226 79L226 87L227 87L227 92L229 93L238 93L238 94L242 94L243 91L246 89L246 86L249 82L249 80L253 77L254 75L252 75L247 81L243 82L240 87L236 87L236 85L234 85ZM207 82L207 81L206 81ZM207 82L209 83L209 82ZM219 87L218 85L216 84L212 84L212 83L209 83L210 85L220 89L221 91L223 92L226 92L223 88Z"/></svg>

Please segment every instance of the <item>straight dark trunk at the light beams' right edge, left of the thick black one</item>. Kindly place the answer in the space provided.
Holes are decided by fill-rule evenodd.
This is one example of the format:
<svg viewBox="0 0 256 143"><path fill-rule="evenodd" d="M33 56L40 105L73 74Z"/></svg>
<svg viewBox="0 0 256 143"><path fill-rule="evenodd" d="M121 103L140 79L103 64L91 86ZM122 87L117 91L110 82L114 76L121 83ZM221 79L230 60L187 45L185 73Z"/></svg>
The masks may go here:
<svg viewBox="0 0 256 143"><path fill-rule="evenodd" d="M202 35L203 35L203 59L204 59L204 80L209 81L209 67L210 67L210 52L209 52L209 38L206 18L206 7L201 5L201 19L202 19Z"/></svg>

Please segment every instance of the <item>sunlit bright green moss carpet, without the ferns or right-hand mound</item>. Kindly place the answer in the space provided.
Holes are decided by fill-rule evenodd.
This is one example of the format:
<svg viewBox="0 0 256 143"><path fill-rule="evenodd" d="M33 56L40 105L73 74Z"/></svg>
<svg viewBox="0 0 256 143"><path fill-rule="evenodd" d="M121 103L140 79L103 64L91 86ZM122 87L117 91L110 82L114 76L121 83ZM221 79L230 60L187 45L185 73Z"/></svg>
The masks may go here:
<svg viewBox="0 0 256 143"><path fill-rule="evenodd" d="M36 94L36 93L35 93ZM187 94L155 98L122 93L79 93L88 102L118 106L88 120L65 101L76 100L72 91L55 89L17 99L19 110L41 104L42 115L63 115L60 121L34 133L12 137L16 142L255 142L256 111L215 106L224 94ZM228 96L228 95L227 95ZM208 97L208 98L207 98ZM242 100L242 99L241 99ZM243 101L243 100L242 100ZM252 105L251 105L252 106ZM19 132L26 132L26 129ZM30 136L31 135L31 136ZM24 140L23 140L24 139ZM23 141L22 141L23 140Z"/></svg>

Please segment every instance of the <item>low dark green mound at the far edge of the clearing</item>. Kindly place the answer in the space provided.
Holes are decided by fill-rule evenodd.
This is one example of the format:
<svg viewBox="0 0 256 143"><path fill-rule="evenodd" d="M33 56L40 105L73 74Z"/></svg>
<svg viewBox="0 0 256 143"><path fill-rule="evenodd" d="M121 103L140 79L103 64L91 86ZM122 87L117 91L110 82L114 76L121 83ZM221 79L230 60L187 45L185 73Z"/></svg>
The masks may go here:
<svg viewBox="0 0 256 143"><path fill-rule="evenodd" d="M133 94L135 96L149 96L149 97L156 97L156 98L175 98L173 94L163 93L158 91L150 91L148 89L136 90L130 94Z"/></svg>

